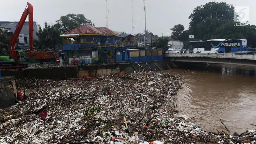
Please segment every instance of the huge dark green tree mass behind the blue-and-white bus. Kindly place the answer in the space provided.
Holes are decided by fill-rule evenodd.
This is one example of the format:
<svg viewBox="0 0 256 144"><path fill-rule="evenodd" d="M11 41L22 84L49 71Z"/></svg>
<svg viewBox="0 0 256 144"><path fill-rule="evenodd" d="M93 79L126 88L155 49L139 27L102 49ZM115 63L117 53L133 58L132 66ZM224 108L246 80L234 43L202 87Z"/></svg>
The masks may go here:
<svg viewBox="0 0 256 144"><path fill-rule="evenodd" d="M235 15L239 20L239 16ZM209 2L197 6L189 16L190 23L187 30L182 31L182 25L174 26L172 38L180 38L184 48L188 48L189 41L208 39L247 39L247 44L256 47L256 26L234 26L234 7L225 2ZM179 27L178 27L179 26ZM182 32L181 32L182 31ZM195 39L189 39L194 35Z"/></svg>

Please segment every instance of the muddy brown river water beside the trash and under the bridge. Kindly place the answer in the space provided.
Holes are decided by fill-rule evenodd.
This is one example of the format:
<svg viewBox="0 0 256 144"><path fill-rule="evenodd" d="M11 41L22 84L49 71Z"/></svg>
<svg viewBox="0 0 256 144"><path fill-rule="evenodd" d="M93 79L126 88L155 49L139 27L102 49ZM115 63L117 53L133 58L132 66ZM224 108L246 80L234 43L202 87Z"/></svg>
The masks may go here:
<svg viewBox="0 0 256 144"><path fill-rule="evenodd" d="M188 69L171 69L178 75ZM203 130L220 132L228 129L238 134L256 129L256 67L218 65L206 69L190 69L182 77L178 93L179 114L196 116L192 122ZM202 117L202 118L199 118Z"/></svg>

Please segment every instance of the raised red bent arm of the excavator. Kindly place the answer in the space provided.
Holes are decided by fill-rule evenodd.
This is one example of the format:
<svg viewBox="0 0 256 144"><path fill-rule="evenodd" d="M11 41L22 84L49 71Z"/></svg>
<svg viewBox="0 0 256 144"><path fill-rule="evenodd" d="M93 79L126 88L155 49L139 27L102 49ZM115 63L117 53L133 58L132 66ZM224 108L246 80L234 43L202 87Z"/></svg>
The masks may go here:
<svg viewBox="0 0 256 144"><path fill-rule="evenodd" d="M28 6L28 8L27 8ZM25 8L25 11L22 13L22 16L20 18L20 21L19 21L19 24L12 36L12 39L10 40L10 45L9 45L9 48L10 48L10 52L11 52L11 57L17 61L17 55L16 55L16 52L15 52L15 43L19 37L19 34L20 34L20 31L25 23L25 20L27 19L27 16L28 16L28 32L29 32L29 57L33 57L33 56L36 56L36 52L34 51L34 48L32 47L33 46L33 12L34 12L34 8L33 8L33 5L30 4L30 3L27 3L27 6Z"/></svg>

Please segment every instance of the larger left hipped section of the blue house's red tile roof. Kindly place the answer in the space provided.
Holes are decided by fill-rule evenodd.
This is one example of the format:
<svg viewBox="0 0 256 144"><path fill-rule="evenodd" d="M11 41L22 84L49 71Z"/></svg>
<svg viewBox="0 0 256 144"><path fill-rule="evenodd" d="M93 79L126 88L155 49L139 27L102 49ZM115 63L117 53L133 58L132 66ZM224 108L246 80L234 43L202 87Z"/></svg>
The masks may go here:
<svg viewBox="0 0 256 144"><path fill-rule="evenodd" d="M97 28L95 28L91 25L80 26L78 28L75 28L75 29L65 32L65 35L67 35L67 34L101 34L101 35L104 35Z"/></svg>

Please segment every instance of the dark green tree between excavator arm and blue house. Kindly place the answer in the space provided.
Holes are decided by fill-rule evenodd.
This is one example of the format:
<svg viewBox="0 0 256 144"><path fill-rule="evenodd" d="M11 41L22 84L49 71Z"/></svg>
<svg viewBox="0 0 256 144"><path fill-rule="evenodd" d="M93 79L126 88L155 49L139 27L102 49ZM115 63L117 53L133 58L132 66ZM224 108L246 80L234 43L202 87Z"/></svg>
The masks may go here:
<svg viewBox="0 0 256 144"><path fill-rule="evenodd" d="M61 34L62 32L60 32L58 28L56 28L55 26L51 27L50 25L47 25L46 22L44 22L44 28L42 29L40 27L39 31L36 32L39 40L39 43L37 42L39 49L50 48L54 50L57 46L61 47Z"/></svg>

